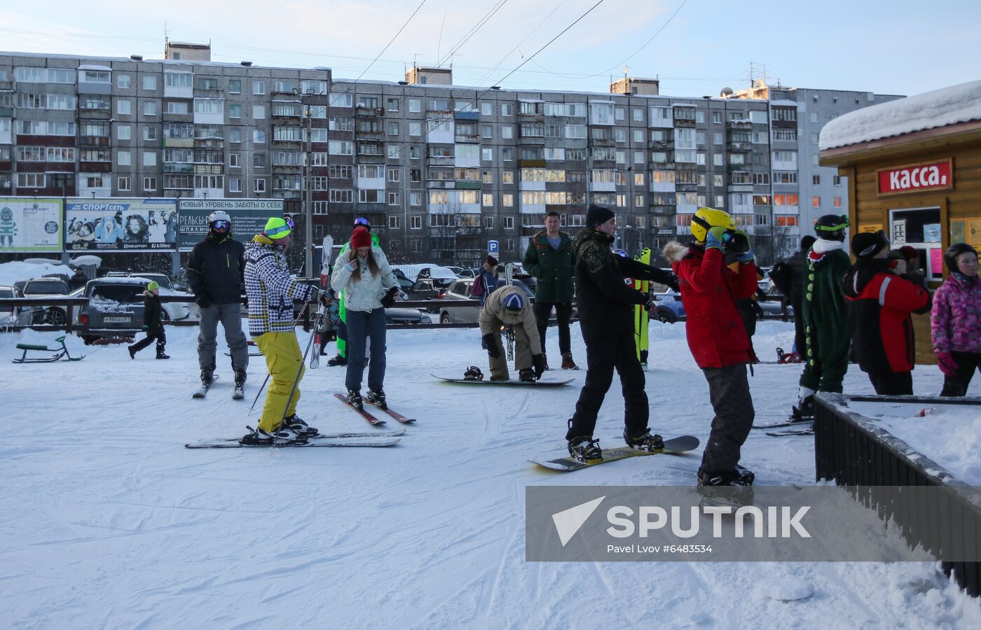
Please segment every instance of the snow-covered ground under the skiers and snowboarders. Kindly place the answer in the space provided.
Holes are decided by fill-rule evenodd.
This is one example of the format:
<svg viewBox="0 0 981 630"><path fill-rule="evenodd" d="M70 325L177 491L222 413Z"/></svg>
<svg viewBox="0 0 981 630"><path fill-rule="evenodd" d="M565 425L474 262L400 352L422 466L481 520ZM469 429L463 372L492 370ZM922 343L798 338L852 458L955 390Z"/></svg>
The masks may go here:
<svg viewBox="0 0 981 630"><path fill-rule="evenodd" d="M704 442L707 388L684 330L651 324L650 426ZM53 334L0 335L0 625L981 626L978 603L933 563L526 562L525 486L688 485L699 458L537 469L529 458L564 448L585 372L549 373L576 379L556 389L436 382L430 372L486 366L475 330L389 331L388 399L419 418L397 447L232 451L183 444L254 425L258 413L248 408L265 364L252 360L247 398L235 402L221 355L225 379L192 400L196 329L167 332L166 362L154 361L152 348L130 361L123 346L77 344L92 353L80 363L33 365L10 363L15 344ZM761 322L757 352L772 360L792 337L789 323ZM547 349L558 363L554 329ZM578 327L573 351L585 363ZM799 373L798 365L755 367L757 422L789 411ZM939 392L936 367L914 376L917 393ZM299 411L322 430L370 430L331 397L342 387L342 368L308 371ZM854 368L846 388L872 391ZM619 443L622 414L614 382L597 425L601 445ZM813 483L806 437L753 431L744 462L758 483Z"/></svg>

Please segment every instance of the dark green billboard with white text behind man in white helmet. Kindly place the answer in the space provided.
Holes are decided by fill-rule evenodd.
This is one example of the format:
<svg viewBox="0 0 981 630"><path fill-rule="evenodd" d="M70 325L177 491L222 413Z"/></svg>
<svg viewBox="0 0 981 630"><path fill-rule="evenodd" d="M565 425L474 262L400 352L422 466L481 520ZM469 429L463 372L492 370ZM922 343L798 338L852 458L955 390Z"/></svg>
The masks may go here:
<svg viewBox="0 0 981 630"><path fill-rule="evenodd" d="M189 252L208 235L208 215L224 210L232 218L232 237L246 243L266 227L270 217L283 217L282 199L181 199L178 247Z"/></svg>

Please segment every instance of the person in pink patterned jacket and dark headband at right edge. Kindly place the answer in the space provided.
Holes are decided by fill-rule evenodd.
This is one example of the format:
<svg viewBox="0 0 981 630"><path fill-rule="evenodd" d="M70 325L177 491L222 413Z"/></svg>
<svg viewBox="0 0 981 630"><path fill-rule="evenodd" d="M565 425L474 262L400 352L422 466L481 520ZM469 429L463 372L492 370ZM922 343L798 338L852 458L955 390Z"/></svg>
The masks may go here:
<svg viewBox="0 0 981 630"><path fill-rule="evenodd" d="M951 272L933 296L930 336L944 372L941 396L964 396L974 370L981 368L981 282L978 254L965 243L944 252Z"/></svg>

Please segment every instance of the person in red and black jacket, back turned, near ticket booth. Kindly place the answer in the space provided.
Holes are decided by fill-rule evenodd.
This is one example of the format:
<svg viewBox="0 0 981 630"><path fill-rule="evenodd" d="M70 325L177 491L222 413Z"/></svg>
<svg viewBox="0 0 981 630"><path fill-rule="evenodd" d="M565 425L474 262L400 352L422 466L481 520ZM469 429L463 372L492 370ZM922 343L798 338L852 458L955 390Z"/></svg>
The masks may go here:
<svg viewBox="0 0 981 630"><path fill-rule="evenodd" d="M910 313L930 311L930 292L889 265L885 232L852 238L856 262L845 274L852 348L880 396L911 396L915 353Z"/></svg>

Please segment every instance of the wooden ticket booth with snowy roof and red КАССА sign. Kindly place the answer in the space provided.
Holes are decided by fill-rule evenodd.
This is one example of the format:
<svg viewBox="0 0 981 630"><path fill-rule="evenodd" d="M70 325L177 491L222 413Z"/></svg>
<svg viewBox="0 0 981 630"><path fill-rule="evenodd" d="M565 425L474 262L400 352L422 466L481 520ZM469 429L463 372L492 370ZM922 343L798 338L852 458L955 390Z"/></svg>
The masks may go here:
<svg viewBox="0 0 981 630"><path fill-rule="evenodd" d="M981 81L875 105L828 122L820 164L848 177L852 234L885 230L919 250L931 289L944 250L981 250ZM936 363L929 315L913 315L916 363Z"/></svg>

